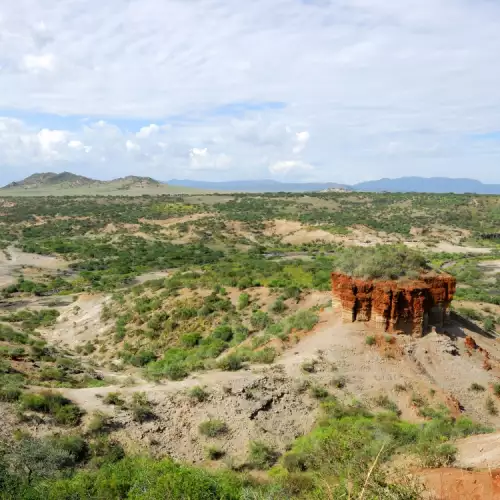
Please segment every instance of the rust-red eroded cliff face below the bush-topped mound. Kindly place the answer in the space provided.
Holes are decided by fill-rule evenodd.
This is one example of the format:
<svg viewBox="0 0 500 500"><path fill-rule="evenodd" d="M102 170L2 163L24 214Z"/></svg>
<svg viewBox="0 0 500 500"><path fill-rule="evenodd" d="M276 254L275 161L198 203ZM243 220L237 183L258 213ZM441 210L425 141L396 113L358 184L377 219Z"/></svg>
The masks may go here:
<svg viewBox="0 0 500 500"><path fill-rule="evenodd" d="M374 281L332 273L333 305L344 321L372 323L380 331L422 336L429 324L443 326L455 293L447 274L412 281Z"/></svg>

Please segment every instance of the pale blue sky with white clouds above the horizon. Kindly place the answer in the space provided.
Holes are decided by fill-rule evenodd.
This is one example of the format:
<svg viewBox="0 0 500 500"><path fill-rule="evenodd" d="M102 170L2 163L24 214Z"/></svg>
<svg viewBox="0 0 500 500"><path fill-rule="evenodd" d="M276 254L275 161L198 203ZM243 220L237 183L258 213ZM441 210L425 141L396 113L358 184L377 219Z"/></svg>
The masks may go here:
<svg viewBox="0 0 500 500"><path fill-rule="evenodd" d="M496 0L0 3L0 184L500 183Z"/></svg>

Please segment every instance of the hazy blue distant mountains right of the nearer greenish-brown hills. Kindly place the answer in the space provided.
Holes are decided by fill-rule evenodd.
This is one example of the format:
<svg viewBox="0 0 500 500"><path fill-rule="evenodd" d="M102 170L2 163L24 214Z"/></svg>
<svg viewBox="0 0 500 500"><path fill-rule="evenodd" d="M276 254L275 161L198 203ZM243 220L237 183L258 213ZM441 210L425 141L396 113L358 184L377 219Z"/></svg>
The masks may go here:
<svg viewBox="0 0 500 500"><path fill-rule="evenodd" d="M334 182L285 183L269 179L254 181L191 181L172 179L170 186L185 186L211 191L233 192L304 192L304 191L366 191L391 193L476 193L500 194L500 184L483 184L474 179L451 179L448 177L401 177L399 179L379 179L348 186Z"/></svg>

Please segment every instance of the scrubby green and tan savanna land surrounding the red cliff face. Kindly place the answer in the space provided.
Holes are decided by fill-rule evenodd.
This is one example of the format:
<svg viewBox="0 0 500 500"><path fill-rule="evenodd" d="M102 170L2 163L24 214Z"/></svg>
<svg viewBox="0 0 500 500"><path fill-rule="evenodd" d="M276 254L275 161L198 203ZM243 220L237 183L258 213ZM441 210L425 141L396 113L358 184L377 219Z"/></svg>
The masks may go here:
<svg viewBox="0 0 500 500"><path fill-rule="evenodd" d="M500 491L500 197L0 190L0 498ZM456 278L421 338L331 273Z"/></svg>

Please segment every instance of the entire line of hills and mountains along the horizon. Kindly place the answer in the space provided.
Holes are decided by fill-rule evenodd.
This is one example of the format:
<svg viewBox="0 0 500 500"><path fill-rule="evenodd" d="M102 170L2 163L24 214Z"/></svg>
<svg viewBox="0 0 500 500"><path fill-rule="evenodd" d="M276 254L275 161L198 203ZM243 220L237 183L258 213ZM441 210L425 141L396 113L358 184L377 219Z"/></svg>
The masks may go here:
<svg viewBox="0 0 500 500"><path fill-rule="evenodd" d="M335 182L279 182L271 179L243 180L243 181L193 181L173 179L162 183L151 177L130 175L111 181L99 181L71 172L56 174L44 172L30 175L26 179L12 182L1 188L2 191L40 191L54 189L69 191L76 188L96 188L103 190L140 190L141 188L170 187L173 192L192 192L193 189L205 191L247 192L247 193L277 193L277 192L311 192L311 191L365 191L365 192L392 192L392 193L476 193L499 194L500 184L483 184L474 179L451 179L447 177L401 177L399 179L379 179L375 181L360 182L352 186ZM156 190L153 190L156 192Z"/></svg>

